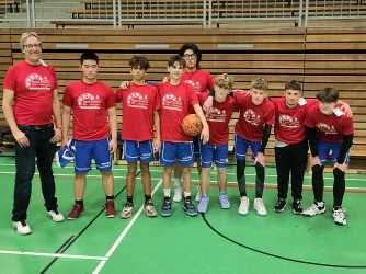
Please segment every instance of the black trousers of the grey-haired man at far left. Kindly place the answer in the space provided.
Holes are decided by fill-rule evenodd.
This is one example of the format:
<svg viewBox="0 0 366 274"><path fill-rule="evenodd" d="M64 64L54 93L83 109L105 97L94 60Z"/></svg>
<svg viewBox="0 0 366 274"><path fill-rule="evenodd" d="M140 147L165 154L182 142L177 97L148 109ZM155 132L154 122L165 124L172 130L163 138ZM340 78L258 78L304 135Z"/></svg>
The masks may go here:
<svg viewBox="0 0 366 274"><path fill-rule="evenodd" d="M57 198L55 197L55 180L52 169L56 145L49 142L54 136L52 125L38 128L34 126L19 126L30 140L26 148L15 145L15 185L13 221L26 220L26 212L30 205L32 193L32 179L37 164L42 193L47 210L57 209ZM37 161L36 161L37 159Z"/></svg>

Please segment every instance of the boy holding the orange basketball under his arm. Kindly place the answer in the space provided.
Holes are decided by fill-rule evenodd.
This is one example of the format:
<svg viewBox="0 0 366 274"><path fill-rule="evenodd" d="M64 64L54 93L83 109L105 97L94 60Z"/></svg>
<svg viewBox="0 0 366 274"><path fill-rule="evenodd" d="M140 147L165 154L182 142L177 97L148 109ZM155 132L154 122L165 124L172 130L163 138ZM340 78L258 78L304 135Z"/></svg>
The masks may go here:
<svg viewBox="0 0 366 274"><path fill-rule="evenodd" d="M161 132L161 153L160 162L163 169L163 195L161 215L169 217L172 215L170 197L171 175L175 163L183 169L183 209L188 216L196 216L195 208L191 198L191 176L193 164L192 137L186 136L182 129L183 118L190 114L193 107L203 123L201 138L204 142L208 141L209 130L205 115L198 104L197 95L191 85L182 81L182 73L185 61L181 56L175 55L168 61L169 82L159 85L160 95L160 132Z"/></svg>

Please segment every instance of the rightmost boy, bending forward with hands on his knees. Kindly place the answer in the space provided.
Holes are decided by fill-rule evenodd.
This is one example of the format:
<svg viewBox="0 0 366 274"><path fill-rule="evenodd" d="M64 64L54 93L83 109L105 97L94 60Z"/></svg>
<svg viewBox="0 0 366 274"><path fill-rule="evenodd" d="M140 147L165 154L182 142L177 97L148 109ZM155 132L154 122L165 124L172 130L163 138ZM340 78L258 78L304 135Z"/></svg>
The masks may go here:
<svg viewBox="0 0 366 274"><path fill-rule="evenodd" d="M307 114L305 126L311 151L313 204L304 215L316 216L325 212L323 202L323 170L329 161L333 164L333 220L346 225L342 201L345 191L345 171L350 162L350 148L353 141L353 119L336 107L339 92L325 88L317 94L318 103Z"/></svg>

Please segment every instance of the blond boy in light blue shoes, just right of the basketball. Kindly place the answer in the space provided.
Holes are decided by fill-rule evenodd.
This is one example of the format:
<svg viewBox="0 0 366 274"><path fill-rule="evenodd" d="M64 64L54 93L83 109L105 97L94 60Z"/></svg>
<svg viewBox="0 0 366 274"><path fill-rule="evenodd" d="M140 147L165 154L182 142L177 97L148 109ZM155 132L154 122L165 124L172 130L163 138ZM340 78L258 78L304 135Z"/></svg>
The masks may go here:
<svg viewBox="0 0 366 274"><path fill-rule="evenodd" d="M206 213L209 197L207 189L210 181L210 168L213 162L217 167L217 183L219 189L218 201L222 209L230 208L230 202L226 193L228 160L229 122L235 107L235 100L228 96L232 89L232 78L228 75L220 75L215 78L215 98L213 106L206 113L209 126L209 141L201 146L201 199L198 212ZM201 102L209 96L208 92L202 93Z"/></svg>

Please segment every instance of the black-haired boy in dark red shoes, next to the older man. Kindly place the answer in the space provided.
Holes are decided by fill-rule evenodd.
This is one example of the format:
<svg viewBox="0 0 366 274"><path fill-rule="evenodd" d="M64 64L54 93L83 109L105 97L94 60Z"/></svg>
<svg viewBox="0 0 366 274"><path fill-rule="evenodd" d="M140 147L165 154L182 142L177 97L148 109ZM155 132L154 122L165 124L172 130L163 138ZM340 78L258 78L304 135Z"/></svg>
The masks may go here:
<svg viewBox="0 0 366 274"><path fill-rule="evenodd" d="M73 113L76 202L68 219L79 218L84 210L85 178L92 159L102 173L106 196L105 214L112 218L115 209L111 153L117 148L115 94L111 87L96 79L99 70L96 54L83 53L80 65L82 80L69 83L62 100L62 146L68 142L71 111Z"/></svg>

